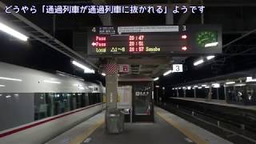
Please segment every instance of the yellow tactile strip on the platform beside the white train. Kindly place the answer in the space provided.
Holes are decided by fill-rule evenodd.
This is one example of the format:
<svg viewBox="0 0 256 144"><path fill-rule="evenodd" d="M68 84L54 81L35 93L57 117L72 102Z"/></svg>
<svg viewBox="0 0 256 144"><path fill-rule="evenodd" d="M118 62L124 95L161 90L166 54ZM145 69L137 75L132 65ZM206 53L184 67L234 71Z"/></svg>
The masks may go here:
<svg viewBox="0 0 256 144"><path fill-rule="evenodd" d="M71 140L70 144L82 143L86 138L90 136L90 134L92 134L96 129L98 129L99 126L102 126L103 123L104 123L104 118L101 118L93 126L90 126L90 128L87 129L83 134L80 134L76 138Z"/></svg>

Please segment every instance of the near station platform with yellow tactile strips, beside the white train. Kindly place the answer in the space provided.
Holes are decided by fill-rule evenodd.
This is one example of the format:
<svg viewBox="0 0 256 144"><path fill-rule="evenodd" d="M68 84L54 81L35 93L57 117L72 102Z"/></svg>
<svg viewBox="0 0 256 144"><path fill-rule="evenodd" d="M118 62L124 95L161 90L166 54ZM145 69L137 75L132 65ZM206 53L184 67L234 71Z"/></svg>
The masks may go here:
<svg viewBox="0 0 256 144"><path fill-rule="evenodd" d="M155 107L155 122L126 123L122 134L107 134L104 116L105 112L97 114L46 144L231 143L158 107Z"/></svg>

